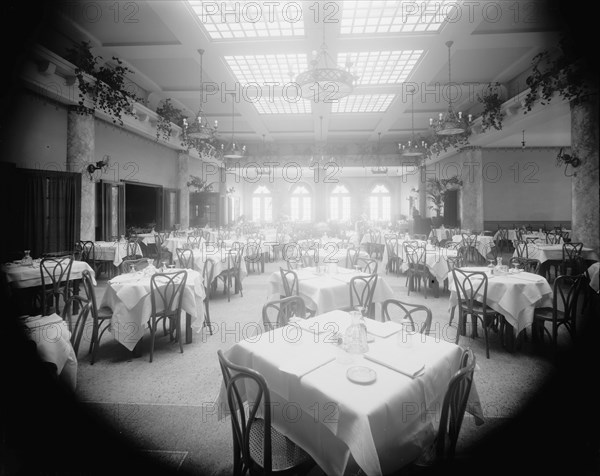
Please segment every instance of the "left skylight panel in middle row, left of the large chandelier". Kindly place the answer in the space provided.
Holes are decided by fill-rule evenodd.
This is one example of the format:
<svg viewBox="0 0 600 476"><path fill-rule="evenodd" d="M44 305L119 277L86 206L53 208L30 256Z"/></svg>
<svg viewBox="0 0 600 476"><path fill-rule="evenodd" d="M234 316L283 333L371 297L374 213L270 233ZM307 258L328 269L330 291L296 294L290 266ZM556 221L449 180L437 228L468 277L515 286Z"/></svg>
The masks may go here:
<svg viewBox="0 0 600 476"><path fill-rule="evenodd" d="M225 56L225 61L241 85L276 83L283 86L308 68L305 54ZM293 73L291 77L290 73Z"/></svg>

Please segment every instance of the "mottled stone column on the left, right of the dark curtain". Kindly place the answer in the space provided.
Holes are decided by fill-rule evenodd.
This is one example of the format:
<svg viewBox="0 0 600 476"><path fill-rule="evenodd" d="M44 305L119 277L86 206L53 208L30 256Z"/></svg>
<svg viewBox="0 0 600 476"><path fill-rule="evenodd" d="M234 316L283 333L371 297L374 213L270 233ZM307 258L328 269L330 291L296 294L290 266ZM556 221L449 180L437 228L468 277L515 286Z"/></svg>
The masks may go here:
<svg viewBox="0 0 600 476"><path fill-rule="evenodd" d="M99 159L98 159L99 160ZM81 173L80 240L96 240L96 183L90 180L86 167L95 158L95 124L93 114L67 113L67 172Z"/></svg>

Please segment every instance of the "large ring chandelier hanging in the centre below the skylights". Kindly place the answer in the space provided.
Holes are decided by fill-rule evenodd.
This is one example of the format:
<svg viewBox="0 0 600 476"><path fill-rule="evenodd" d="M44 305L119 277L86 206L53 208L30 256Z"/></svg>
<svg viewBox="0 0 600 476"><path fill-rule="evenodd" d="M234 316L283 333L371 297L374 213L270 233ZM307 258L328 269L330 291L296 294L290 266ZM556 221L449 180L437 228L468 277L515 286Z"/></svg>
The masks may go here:
<svg viewBox="0 0 600 476"><path fill-rule="evenodd" d="M354 89L356 77L350 72L352 63L347 60L345 69L336 65L327 51L325 31L319 51L313 51L308 70L296 76L302 97L313 102L331 102L348 96Z"/></svg>

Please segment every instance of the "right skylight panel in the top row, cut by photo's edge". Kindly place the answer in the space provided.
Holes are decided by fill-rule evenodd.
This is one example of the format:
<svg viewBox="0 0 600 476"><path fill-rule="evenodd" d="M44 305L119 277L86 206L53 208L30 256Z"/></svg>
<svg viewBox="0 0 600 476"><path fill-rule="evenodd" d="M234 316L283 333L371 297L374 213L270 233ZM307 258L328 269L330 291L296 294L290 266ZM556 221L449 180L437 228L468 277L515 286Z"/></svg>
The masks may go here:
<svg viewBox="0 0 600 476"><path fill-rule="evenodd" d="M437 31L456 2L390 0L342 2L342 35Z"/></svg>

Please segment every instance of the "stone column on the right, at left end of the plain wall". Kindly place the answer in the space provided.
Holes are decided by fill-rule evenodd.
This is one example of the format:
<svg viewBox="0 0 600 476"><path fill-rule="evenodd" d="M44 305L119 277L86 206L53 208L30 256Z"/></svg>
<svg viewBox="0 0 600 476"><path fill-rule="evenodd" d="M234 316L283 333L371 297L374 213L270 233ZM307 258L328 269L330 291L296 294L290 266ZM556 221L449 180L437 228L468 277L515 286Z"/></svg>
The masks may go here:
<svg viewBox="0 0 600 476"><path fill-rule="evenodd" d="M483 162L480 148L470 148L462 154L460 190L461 228L483 231ZM448 178L448 177L446 177Z"/></svg>

